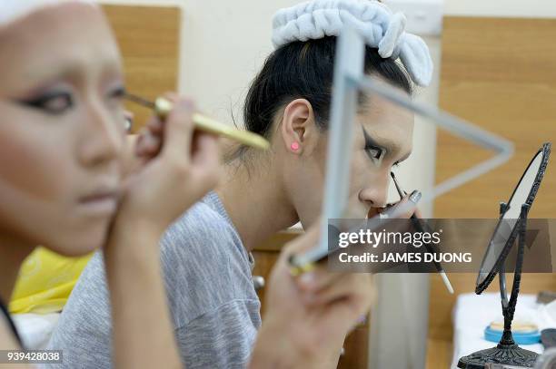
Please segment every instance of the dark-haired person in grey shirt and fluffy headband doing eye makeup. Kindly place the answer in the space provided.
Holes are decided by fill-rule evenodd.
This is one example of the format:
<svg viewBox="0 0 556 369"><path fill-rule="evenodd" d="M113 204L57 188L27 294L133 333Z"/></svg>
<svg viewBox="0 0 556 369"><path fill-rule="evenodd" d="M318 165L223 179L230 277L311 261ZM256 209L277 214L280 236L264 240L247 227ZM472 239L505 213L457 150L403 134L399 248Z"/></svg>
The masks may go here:
<svg viewBox="0 0 556 369"><path fill-rule="evenodd" d="M163 239L164 277L186 367L244 367L250 355L252 364L260 363L264 355L259 353L275 357L282 349L291 351L282 357L291 360L284 367L301 363L295 354L299 350L307 360L318 358L309 361L318 363L314 367L334 367L357 315L369 309L371 276L329 277L319 269L299 279L303 290L314 294L306 301L309 305L303 298L276 297L276 291L288 290L283 285L287 278L273 278L261 326L251 280L249 252L255 246L298 221L304 228L318 223L334 50L344 24L353 25L367 40L365 73L408 94L413 84L430 83L432 62L426 44L405 32L403 15L392 14L379 2L316 0L274 16L275 50L254 78L243 112L246 128L271 141L272 150L234 151L222 186L180 218ZM350 209L364 218L386 205L390 170L412 151L413 117L378 100L362 99L359 111L362 129L356 131L354 143ZM419 197L420 192L413 191L403 201L416 202ZM281 259L277 270L285 269ZM99 257L84 270L49 346L64 349L75 365L87 356L105 363L110 324L106 287L97 282L103 270ZM343 308L352 314L330 314ZM264 337L273 337L279 351L264 349Z"/></svg>

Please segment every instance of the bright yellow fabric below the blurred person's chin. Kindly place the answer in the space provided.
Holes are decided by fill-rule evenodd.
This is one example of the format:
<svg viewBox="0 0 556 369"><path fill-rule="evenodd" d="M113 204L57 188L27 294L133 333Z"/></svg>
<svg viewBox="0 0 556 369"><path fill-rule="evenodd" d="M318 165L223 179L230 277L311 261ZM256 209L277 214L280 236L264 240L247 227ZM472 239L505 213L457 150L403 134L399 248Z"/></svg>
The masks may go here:
<svg viewBox="0 0 556 369"><path fill-rule="evenodd" d="M19 270L10 313L61 311L91 257L61 257L46 248L36 248Z"/></svg>

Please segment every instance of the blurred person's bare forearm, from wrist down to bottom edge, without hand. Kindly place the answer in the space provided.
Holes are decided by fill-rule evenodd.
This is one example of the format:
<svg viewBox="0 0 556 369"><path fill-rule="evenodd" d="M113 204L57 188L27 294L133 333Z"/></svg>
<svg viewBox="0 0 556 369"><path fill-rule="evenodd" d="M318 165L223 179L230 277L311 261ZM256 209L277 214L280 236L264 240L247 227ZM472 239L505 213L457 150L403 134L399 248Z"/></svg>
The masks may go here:
<svg viewBox="0 0 556 369"><path fill-rule="evenodd" d="M183 367L166 305L159 238L148 225L118 224L104 249L115 368Z"/></svg>

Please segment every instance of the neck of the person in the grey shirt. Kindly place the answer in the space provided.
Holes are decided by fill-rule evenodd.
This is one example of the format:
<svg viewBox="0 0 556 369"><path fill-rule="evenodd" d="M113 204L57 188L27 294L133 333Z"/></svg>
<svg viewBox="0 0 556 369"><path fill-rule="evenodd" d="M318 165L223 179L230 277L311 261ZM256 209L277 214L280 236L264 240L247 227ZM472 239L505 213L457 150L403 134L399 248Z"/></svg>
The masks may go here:
<svg viewBox="0 0 556 369"><path fill-rule="evenodd" d="M251 171L243 165L227 165L223 185L216 193L248 251L298 221L283 181L271 163L266 167L255 163Z"/></svg>

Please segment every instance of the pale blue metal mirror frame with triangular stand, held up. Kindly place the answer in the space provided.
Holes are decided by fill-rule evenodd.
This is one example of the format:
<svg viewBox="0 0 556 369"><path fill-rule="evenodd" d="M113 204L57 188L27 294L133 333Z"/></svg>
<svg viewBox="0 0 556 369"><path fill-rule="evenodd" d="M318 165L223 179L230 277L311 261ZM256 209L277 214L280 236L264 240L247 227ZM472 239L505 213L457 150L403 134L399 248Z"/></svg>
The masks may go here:
<svg viewBox="0 0 556 369"><path fill-rule="evenodd" d="M482 174L501 166L513 155L511 141L443 112L436 106L415 102L411 97L399 92L388 83L383 83L379 78L363 73L365 43L362 36L351 26L343 27L338 37L336 50L329 129L330 141L327 149L323 218L321 219L322 235L328 234L328 219L344 218L347 207L350 166L345 163L351 161L353 126L359 92L378 96L409 112L420 114L435 126L449 131L465 141L471 141L484 149L495 152L490 159L436 184L433 189L423 193L421 203L432 201L432 199L482 176ZM408 201L407 206L412 206L411 201ZM401 207L399 210L403 212L407 208ZM392 214L392 218L395 218L395 213ZM293 274L297 275L312 269L315 262L327 257L328 254L328 238L323 237L318 247L290 258Z"/></svg>

